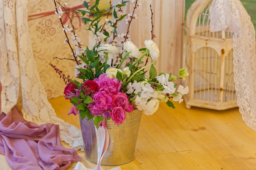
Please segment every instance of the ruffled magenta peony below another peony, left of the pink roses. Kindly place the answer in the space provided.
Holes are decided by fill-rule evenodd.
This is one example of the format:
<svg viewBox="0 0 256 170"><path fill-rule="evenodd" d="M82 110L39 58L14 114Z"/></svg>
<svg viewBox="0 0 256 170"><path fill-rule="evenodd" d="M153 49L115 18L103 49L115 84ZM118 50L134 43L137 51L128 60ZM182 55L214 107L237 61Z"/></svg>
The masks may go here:
<svg viewBox="0 0 256 170"><path fill-rule="evenodd" d="M108 112L112 110L112 97L105 91L98 91L94 93L92 99L93 103L88 104L92 115L102 115L103 117L110 116L110 113Z"/></svg>

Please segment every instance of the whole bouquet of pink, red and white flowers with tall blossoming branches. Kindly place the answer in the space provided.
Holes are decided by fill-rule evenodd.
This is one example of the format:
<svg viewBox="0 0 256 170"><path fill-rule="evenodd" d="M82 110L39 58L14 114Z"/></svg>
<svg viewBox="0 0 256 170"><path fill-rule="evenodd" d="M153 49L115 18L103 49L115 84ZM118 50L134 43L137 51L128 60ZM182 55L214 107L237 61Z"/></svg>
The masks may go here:
<svg viewBox="0 0 256 170"><path fill-rule="evenodd" d="M129 38L130 24L137 19L135 11L140 9L138 0L122 0L115 6L110 1L110 7L104 11L98 8L100 0L95 0L90 7L86 1L83 3L86 10L78 10L76 13L88 25L88 31L94 34L95 44L92 49L83 46L71 19L71 26L63 24L61 16L63 13L67 15L67 4L61 4L61 0L53 1L55 13L60 18L66 36L64 42L72 51L73 58L70 60L75 62L76 79L66 77L52 65L67 84L65 99L72 103L68 114L79 114L81 119L88 121L93 119L99 130L107 129L106 121L110 119L117 126L124 123L126 113L132 110L138 109L146 115L152 115L157 111L159 102L175 108L172 101L183 101L182 95L188 93L189 88L177 86L175 80L185 79L188 72L182 68L178 75L157 74L154 64L159 57L159 49L153 41L156 37L153 25L152 39L145 40L145 48L138 49ZM126 14L128 4L133 5L133 11ZM152 12L151 6L150 10ZM109 20L111 12L112 21ZM128 24L125 33L117 32L121 20L126 20Z"/></svg>

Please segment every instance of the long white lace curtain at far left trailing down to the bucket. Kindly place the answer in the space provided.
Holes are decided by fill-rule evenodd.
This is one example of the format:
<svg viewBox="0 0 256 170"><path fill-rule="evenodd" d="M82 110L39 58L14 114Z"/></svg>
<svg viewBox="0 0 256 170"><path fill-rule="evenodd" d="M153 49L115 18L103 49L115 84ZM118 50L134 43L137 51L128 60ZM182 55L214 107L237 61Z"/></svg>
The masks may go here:
<svg viewBox="0 0 256 170"><path fill-rule="evenodd" d="M27 3L27 0L0 0L0 111L9 113L21 96L22 113L27 121L58 124L61 140L83 150L81 131L56 116L40 81L29 36Z"/></svg>

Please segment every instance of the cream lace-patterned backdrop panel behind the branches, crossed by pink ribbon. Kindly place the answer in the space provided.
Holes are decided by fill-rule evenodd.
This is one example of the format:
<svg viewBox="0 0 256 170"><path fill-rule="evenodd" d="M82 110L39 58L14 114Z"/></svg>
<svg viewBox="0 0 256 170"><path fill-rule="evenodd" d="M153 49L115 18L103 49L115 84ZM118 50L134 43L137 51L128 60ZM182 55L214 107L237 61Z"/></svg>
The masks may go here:
<svg viewBox="0 0 256 170"><path fill-rule="evenodd" d="M83 1L65 0L70 8L83 4ZM34 58L48 99L63 96L65 88L63 79L60 79L54 69L49 66L50 63L56 65L65 75L70 75L70 78L74 78L73 61L53 58L72 58L70 48L67 44L64 44L65 35L58 16L54 14L54 10L55 6L52 0L28 0L28 27ZM72 16L73 13L70 12L70 15ZM88 44L86 26L77 17L72 20L81 42Z"/></svg>

